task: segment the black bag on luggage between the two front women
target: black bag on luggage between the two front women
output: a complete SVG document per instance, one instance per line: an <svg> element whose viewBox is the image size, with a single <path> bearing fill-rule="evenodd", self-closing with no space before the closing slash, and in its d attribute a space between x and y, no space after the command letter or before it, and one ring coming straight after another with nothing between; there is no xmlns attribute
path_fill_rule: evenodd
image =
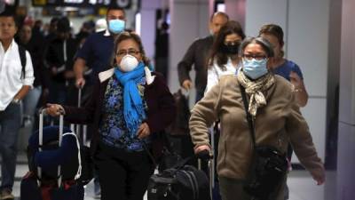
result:
<svg viewBox="0 0 355 200"><path fill-rule="evenodd" d="M206 173L185 165L189 159L152 175L147 188L148 200L210 200Z"/></svg>

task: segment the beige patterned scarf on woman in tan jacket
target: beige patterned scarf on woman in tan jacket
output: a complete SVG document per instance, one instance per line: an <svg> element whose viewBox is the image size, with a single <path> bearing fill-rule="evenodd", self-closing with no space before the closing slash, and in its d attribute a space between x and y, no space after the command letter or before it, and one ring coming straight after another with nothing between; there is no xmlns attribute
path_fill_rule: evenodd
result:
<svg viewBox="0 0 355 200"><path fill-rule="evenodd" d="M263 92L269 89L275 83L275 78L271 73L266 74L254 81L248 79L241 70L238 73L238 82L245 88L245 92L250 96L248 112L251 116L256 116L257 108L266 105L266 99Z"/></svg>

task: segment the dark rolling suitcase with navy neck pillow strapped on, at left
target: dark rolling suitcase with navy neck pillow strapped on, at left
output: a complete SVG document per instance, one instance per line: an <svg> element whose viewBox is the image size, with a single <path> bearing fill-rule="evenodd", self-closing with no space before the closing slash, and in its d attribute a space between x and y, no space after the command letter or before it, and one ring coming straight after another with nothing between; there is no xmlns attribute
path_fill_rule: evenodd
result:
<svg viewBox="0 0 355 200"><path fill-rule="evenodd" d="M79 141L64 128L63 115L59 127L43 128L44 113L45 109L40 113L39 131L28 140L29 172L21 180L20 199L83 200Z"/></svg>

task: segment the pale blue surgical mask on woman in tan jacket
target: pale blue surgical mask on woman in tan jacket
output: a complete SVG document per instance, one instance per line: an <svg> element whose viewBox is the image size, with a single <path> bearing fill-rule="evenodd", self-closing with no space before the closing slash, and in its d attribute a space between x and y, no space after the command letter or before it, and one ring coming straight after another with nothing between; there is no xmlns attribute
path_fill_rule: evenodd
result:
<svg viewBox="0 0 355 200"><path fill-rule="evenodd" d="M243 72L246 76L255 80L267 74L268 71L266 68L266 63L267 63L267 59L263 59L263 60L243 59Z"/></svg>

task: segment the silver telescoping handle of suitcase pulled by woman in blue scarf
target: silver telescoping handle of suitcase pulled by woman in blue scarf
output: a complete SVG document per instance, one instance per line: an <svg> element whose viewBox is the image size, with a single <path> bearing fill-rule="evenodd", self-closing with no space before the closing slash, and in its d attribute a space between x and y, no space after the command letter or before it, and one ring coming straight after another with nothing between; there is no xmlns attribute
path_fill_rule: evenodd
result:
<svg viewBox="0 0 355 200"><path fill-rule="evenodd" d="M64 112L63 110L59 110L59 147L61 146L61 141L63 139L63 128L64 128ZM47 109L43 108L42 110L40 110L40 114L39 114L39 135L38 135L38 144L39 144L39 148L38 151L41 152L43 149L43 116L47 115ZM42 178L42 169L41 167L37 167L37 171L38 171L38 178L39 180L41 180ZM60 164L58 165L58 187L60 187L61 185L61 173L60 173Z"/></svg>

